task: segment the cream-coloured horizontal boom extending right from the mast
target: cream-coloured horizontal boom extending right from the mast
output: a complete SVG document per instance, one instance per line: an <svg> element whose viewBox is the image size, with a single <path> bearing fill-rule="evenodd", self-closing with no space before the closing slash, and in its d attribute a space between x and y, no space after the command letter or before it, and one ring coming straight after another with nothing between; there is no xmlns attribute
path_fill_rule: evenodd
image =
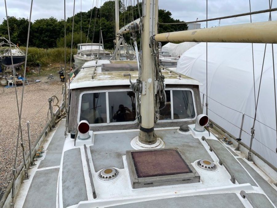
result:
<svg viewBox="0 0 277 208"><path fill-rule="evenodd" d="M277 43L277 21L228 25L206 29L161 33L161 42Z"/></svg>

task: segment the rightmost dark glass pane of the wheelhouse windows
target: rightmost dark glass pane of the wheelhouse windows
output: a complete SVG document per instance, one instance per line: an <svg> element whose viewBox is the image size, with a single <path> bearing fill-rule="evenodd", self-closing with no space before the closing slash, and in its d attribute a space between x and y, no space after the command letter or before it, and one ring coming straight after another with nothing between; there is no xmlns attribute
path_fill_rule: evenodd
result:
<svg viewBox="0 0 277 208"><path fill-rule="evenodd" d="M192 93L189 90L173 90L173 119L194 118Z"/></svg>

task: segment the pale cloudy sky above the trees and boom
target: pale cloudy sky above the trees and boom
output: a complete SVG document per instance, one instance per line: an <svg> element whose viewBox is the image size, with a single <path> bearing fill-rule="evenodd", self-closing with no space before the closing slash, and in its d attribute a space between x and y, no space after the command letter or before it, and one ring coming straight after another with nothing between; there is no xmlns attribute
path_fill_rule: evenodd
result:
<svg viewBox="0 0 277 208"><path fill-rule="evenodd" d="M73 14L73 1L66 0L66 16ZM75 0L75 13L81 10L81 0ZM107 0L98 0L104 3ZM134 0L127 0L134 2ZM141 1L141 0L140 0ZM8 15L15 17L29 18L31 0L6 0ZM63 0L34 0L32 11L32 22L40 18L49 18L51 16L62 19L64 15ZM82 0L82 11L88 11L92 8L93 0ZM126 2L126 0L125 0ZM136 2L136 0L135 0ZM95 6L96 0L94 0ZM98 7L99 7L98 5ZM273 1L272 8L277 6L277 0ZM196 18L206 18L206 0L159 0L159 8L169 10L173 18L182 21L194 21ZM269 0L251 0L251 10L264 10L269 8ZM4 1L0 4L0 21L6 18ZM215 18L239 13L249 12L249 0L208 0L208 18ZM272 20L277 19L277 12L272 13ZM253 22L268 21L268 14L255 14L252 16ZM237 17L221 20L220 25L229 25L237 23L250 22L250 17ZM218 26L219 21L208 23L208 27ZM205 27L206 22L201 24Z"/></svg>

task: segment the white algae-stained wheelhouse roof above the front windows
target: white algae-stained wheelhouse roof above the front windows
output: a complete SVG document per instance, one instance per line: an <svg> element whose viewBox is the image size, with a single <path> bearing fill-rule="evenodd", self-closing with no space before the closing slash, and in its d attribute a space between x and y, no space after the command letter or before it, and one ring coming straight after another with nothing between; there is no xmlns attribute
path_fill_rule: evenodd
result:
<svg viewBox="0 0 277 208"><path fill-rule="evenodd" d="M97 68L93 75L94 67L82 69L70 83L70 89L130 85L129 76L123 76L126 73L131 74L132 82L136 82L139 78L138 71L99 71ZM202 85L199 81L185 75L179 77L166 70L162 70L162 74L165 76L165 84Z"/></svg>

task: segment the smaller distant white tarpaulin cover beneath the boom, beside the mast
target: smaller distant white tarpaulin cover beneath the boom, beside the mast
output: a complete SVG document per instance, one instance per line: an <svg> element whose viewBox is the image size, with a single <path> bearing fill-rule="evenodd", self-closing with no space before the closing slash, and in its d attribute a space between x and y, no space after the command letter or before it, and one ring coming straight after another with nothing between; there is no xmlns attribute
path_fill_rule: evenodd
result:
<svg viewBox="0 0 277 208"><path fill-rule="evenodd" d="M181 56L185 51L197 44L198 43L194 42L183 42L179 44L167 43L162 47L162 51L167 51L169 52L169 55L179 58L179 56Z"/></svg>

